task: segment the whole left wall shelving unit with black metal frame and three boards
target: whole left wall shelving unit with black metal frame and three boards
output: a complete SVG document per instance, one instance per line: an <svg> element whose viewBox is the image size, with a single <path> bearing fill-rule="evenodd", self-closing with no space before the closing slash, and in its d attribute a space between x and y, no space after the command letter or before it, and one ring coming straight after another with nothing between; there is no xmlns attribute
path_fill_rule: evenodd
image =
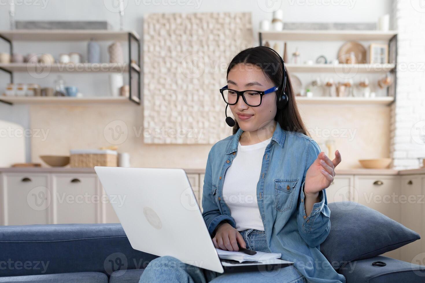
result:
<svg viewBox="0 0 425 283"><path fill-rule="evenodd" d="M128 63L125 64L111 64L111 63L79 63L79 64L59 64L54 63L50 66L42 66L40 64L27 64L27 63L10 63L0 64L0 71L8 73L10 76L10 82L13 83L14 72L31 72L40 74L40 72L68 72L68 73L79 73L79 72L115 72L122 73L128 72L128 86L130 88L129 98L63 98L63 97L0 97L0 102L12 105L15 103L20 104L34 104L34 103L50 103L61 102L77 102L77 103L93 103L93 102L114 102L117 101L131 101L140 105L141 102L141 90L140 90L140 37L134 31L108 31L108 30L0 30L0 39L3 39L9 45L9 53L13 54L13 43L12 41L89 41L91 39L96 41L126 41L128 43ZM137 50L134 52L132 43L136 43ZM132 54L136 56L137 60L132 60ZM130 63L136 62L136 63ZM137 85L133 78L137 79ZM133 90L134 93L133 93Z"/></svg>

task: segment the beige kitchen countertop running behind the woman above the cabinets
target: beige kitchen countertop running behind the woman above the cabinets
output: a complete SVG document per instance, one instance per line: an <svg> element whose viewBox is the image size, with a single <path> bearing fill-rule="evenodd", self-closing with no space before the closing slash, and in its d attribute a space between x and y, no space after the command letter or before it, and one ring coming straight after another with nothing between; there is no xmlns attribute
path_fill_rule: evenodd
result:
<svg viewBox="0 0 425 283"><path fill-rule="evenodd" d="M205 169L184 169L187 174L204 174ZM69 167L38 167L38 168L0 168L0 173L94 173L93 168L69 168ZM336 169L337 175L414 175L425 174L425 168L395 170L395 169Z"/></svg>

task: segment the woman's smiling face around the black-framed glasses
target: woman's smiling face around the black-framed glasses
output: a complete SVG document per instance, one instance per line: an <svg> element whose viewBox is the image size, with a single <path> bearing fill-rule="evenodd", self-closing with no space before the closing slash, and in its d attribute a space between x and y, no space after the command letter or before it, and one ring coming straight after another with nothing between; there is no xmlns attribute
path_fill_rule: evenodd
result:
<svg viewBox="0 0 425 283"><path fill-rule="evenodd" d="M237 64L227 75L228 88L232 90L268 90L274 87L260 67L252 64ZM240 96L238 103L229 105L233 116L243 131L256 131L266 126L276 116L276 92L263 95L260 106L249 106Z"/></svg>

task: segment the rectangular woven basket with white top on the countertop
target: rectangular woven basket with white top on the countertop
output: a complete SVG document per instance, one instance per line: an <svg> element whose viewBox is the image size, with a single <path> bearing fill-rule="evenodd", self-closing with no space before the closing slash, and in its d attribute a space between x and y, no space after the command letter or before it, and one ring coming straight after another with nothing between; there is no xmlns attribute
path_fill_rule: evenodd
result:
<svg viewBox="0 0 425 283"><path fill-rule="evenodd" d="M93 168L94 166L116 167L118 159L116 151L71 151L70 167Z"/></svg>

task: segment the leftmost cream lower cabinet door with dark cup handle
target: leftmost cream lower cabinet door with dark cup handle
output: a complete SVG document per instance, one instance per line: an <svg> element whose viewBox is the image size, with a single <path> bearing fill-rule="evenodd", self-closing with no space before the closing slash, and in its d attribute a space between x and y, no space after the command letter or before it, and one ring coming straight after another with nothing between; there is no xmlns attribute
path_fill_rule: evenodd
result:
<svg viewBox="0 0 425 283"><path fill-rule="evenodd" d="M49 175L3 173L0 201L2 225L45 224L50 221Z"/></svg>

